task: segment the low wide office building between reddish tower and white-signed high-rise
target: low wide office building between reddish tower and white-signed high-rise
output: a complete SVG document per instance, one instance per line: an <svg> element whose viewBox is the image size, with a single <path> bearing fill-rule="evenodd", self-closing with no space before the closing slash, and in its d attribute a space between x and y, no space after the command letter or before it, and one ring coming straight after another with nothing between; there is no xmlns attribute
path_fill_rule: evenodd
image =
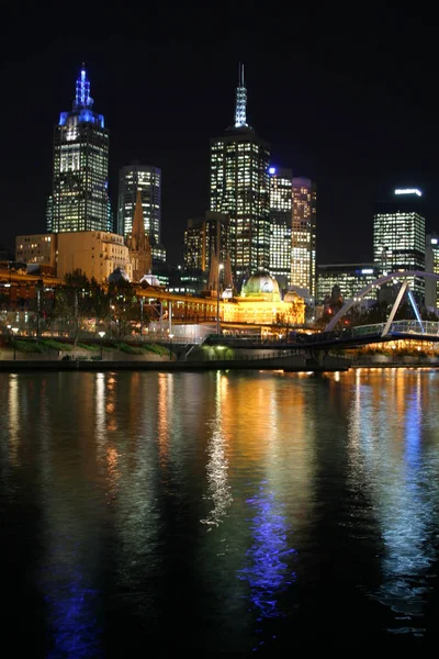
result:
<svg viewBox="0 0 439 659"><path fill-rule="evenodd" d="M351 300L362 289L378 279L374 264L331 264L317 266L317 303L330 298L334 287L340 289L344 300ZM367 293L363 300L376 301L376 289Z"/></svg>

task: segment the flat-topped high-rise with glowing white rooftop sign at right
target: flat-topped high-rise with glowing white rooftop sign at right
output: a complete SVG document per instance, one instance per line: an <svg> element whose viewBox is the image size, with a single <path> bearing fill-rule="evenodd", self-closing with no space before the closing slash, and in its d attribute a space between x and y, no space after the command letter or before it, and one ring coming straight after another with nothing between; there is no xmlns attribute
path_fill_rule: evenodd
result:
<svg viewBox="0 0 439 659"><path fill-rule="evenodd" d="M425 217L421 192L414 188L395 190L391 201L375 204L373 215L373 260L380 275L425 269ZM425 284L420 277L409 286L419 301Z"/></svg>

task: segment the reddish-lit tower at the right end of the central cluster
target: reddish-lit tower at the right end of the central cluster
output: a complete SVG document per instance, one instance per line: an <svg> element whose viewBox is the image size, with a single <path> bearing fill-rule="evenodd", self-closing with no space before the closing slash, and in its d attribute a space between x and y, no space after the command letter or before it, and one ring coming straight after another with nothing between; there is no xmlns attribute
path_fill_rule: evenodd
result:
<svg viewBox="0 0 439 659"><path fill-rule="evenodd" d="M315 182L293 178L293 221L291 228L291 284L316 295L316 206Z"/></svg>

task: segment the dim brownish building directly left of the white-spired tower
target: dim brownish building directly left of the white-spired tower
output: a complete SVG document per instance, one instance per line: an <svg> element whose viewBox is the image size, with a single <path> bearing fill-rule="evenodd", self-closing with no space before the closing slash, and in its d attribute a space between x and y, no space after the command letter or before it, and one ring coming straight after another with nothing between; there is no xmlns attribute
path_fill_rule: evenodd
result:
<svg viewBox="0 0 439 659"><path fill-rule="evenodd" d="M225 263L228 253L228 216L207 211L204 220L188 220L184 232L183 263L188 269L206 271L211 267L212 252Z"/></svg>

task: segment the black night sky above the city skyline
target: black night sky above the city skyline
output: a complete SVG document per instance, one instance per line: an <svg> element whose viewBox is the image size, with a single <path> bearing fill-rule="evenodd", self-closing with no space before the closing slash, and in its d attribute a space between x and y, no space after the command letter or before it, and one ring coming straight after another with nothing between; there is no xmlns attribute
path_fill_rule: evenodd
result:
<svg viewBox="0 0 439 659"><path fill-rule="evenodd" d="M53 7L2 15L0 243L45 231L53 126L82 62L110 129L113 208L120 167L160 167L170 261L209 208L209 138L233 122L239 62L272 164L317 182L317 263L371 260L373 201L394 187L420 188L439 230L437 26L421 3Z"/></svg>

